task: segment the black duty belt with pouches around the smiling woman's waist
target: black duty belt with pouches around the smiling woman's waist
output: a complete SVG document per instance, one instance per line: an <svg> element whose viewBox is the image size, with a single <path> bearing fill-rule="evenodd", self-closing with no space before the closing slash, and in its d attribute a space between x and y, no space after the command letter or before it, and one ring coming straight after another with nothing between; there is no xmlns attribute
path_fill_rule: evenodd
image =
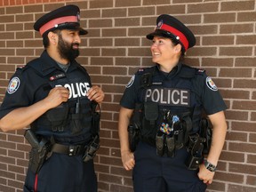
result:
<svg viewBox="0 0 256 192"><path fill-rule="evenodd" d="M208 121L202 119L202 121ZM189 170L196 170L199 164L203 164L204 155L209 153L212 141L212 129L210 127L201 127L206 132L202 132L188 135L187 140L179 140L183 138L184 132L182 130L176 131L173 135L167 135L164 132L156 133L156 154L158 156L174 157L175 152L180 148L187 148L188 158L185 164ZM129 132L129 144L131 151L136 150L136 146L140 142L140 130L134 127L132 124L128 127ZM145 140L144 140L145 141ZM147 142L147 141L146 141ZM151 145L151 143L148 143Z"/></svg>

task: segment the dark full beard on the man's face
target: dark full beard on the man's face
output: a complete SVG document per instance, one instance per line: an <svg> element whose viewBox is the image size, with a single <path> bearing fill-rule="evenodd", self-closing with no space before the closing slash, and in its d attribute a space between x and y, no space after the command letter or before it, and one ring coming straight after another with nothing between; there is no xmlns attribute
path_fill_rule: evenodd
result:
<svg viewBox="0 0 256 192"><path fill-rule="evenodd" d="M65 42L62 39L62 36L59 35L58 50L59 50L61 59L75 60L76 57L78 57L79 50L78 49L73 49L73 45L74 44L68 44L68 42ZM79 44L77 44L77 45L79 45Z"/></svg>

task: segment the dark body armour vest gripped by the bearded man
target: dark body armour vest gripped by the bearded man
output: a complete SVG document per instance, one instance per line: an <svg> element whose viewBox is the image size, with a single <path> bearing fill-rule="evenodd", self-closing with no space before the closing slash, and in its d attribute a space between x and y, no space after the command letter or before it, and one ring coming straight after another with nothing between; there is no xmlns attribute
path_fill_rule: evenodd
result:
<svg viewBox="0 0 256 192"><path fill-rule="evenodd" d="M69 98L67 102L61 103L57 108L52 108L37 118L31 124L31 128L36 134L44 136L53 134L54 138L57 140L59 138L60 141L91 140L92 102L86 96L92 86L90 76L76 61L71 64L67 73L57 68L50 68L47 72L43 72L40 68L44 65L42 62L43 60L38 59L27 65L27 68L33 68L45 82L35 94L46 97L52 88L63 86L69 90ZM76 68L72 68L73 64Z"/></svg>

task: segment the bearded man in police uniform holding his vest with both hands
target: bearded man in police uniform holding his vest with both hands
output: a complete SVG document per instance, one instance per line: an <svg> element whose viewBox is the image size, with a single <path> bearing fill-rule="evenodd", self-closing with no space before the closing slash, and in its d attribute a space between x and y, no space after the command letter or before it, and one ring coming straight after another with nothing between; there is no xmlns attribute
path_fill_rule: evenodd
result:
<svg viewBox="0 0 256 192"><path fill-rule="evenodd" d="M80 10L67 5L36 20L44 52L18 68L0 109L0 128L19 130L32 145L24 191L96 192L92 158L99 148L100 114L104 99L76 62L81 35Z"/></svg>

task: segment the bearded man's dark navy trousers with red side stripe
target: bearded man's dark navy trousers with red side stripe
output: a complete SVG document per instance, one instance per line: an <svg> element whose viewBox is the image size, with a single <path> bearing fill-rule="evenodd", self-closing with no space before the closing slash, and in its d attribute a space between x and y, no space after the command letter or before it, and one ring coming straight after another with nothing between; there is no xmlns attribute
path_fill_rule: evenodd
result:
<svg viewBox="0 0 256 192"><path fill-rule="evenodd" d="M52 153L37 176L28 169L24 192L97 192L97 188L93 161Z"/></svg>

